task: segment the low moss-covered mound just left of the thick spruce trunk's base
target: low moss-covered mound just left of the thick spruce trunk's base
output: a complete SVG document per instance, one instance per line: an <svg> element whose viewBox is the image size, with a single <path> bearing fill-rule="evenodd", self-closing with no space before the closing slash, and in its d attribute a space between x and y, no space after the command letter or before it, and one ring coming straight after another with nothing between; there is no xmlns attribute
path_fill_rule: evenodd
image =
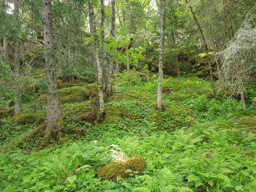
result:
<svg viewBox="0 0 256 192"><path fill-rule="evenodd" d="M46 112L30 112L30 113L20 113L13 116L13 122L21 125L25 124L42 124L45 120Z"/></svg>

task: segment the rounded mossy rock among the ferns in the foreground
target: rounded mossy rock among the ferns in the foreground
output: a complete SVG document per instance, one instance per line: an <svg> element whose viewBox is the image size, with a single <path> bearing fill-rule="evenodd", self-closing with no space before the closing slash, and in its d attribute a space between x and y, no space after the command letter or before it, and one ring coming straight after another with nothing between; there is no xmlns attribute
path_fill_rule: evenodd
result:
<svg viewBox="0 0 256 192"><path fill-rule="evenodd" d="M102 166L97 175L104 180L116 181L116 177L128 178L131 174L141 175L145 170L145 159L139 155L130 157L128 160L116 160L107 166Z"/></svg>

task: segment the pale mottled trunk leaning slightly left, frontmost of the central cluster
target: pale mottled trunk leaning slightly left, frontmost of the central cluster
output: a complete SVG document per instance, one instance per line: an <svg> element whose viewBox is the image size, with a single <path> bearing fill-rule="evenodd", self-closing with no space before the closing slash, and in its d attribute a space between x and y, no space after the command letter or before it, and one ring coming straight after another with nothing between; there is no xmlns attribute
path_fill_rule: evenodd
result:
<svg viewBox="0 0 256 192"><path fill-rule="evenodd" d="M102 83L102 68L100 64L100 52L99 52L99 42L96 31L96 22L95 22L95 14L93 10L92 0L89 0L89 23L90 23L90 33L94 38L94 51L96 58L96 66L98 70L98 86L99 86L99 102L100 102L100 113L104 114L104 96L103 96L103 83Z"/></svg>

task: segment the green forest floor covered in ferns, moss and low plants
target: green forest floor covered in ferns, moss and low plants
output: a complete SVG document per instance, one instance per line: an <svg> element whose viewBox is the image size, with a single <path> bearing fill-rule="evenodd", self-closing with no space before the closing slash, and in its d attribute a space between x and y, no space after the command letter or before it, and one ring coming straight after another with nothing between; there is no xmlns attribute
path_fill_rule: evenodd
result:
<svg viewBox="0 0 256 192"><path fill-rule="evenodd" d="M38 148L43 135L35 134L45 118L45 95L20 115L2 114L0 191L256 191L255 109L244 112L221 92L214 98L209 82L192 76L164 79L165 111L158 112L156 75L123 73L113 82L102 123L91 115L96 84L61 82L64 139L46 148ZM129 169L127 178L99 178L113 148L144 158L142 176Z"/></svg>

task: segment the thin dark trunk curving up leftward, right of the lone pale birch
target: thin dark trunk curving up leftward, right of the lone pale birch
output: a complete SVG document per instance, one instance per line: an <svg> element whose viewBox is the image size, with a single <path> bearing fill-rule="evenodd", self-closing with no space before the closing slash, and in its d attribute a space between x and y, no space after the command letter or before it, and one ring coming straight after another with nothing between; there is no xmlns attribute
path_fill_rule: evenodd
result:
<svg viewBox="0 0 256 192"><path fill-rule="evenodd" d="M194 20L195 20L195 23L197 24L198 30L199 30L199 32L200 32L200 34L201 34L201 38L202 38L203 43L204 43L205 52L206 52L206 57L207 57L207 60L208 60L209 70L210 70L211 89L212 89L212 91L213 91L213 94L215 95L215 92L216 92L216 91L215 91L215 85L214 85L214 82L213 82L213 74L212 74L211 61L210 61L210 59L209 59L209 57L208 57L208 52L209 52L209 50L208 50L208 45L207 45L206 40L205 40L205 35L204 35L203 30L202 30L202 28L201 28L201 26L200 26L200 24L199 24L199 22L198 22L198 19L197 19L197 17L196 17L196 14L195 14L194 11L193 11L192 6L189 5L189 3L188 3L187 0L185 0L185 1L186 1L186 4L188 4L188 6L189 6L189 9L190 9L190 11L191 11L191 13L192 13L192 16L193 16L193 18L194 18Z"/></svg>

